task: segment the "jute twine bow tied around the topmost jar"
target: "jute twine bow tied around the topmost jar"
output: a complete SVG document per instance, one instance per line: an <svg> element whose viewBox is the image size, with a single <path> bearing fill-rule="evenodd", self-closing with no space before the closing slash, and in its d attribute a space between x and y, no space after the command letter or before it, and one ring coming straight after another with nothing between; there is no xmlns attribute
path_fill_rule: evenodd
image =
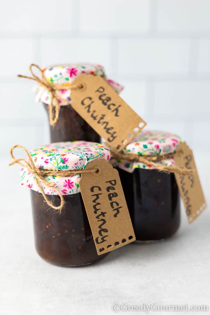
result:
<svg viewBox="0 0 210 315"><path fill-rule="evenodd" d="M37 77L34 74L34 72L32 70L32 67L36 67L39 70L40 77ZM58 100L61 100L61 101L65 102L65 103L68 103L67 100L62 99L60 96L58 96L56 94L56 90L82 89L83 85L82 85L82 83L78 83L77 85L75 85L73 83L53 84L53 83L49 82L48 79L44 76L44 73L43 73L42 69L39 66L35 65L35 64L31 64L29 66L29 70L31 72L31 76L32 77L22 76L21 74L18 74L18 77L37 81L37 83L40 86L42 86L44 89L46 89L49 92L49 95L50 95L50 104L48 106L49 123L50 123L51 126L54 126L56 124L56 122L58 121L58 117L59 117L60 106L59 106L59 101Z"/></svg>

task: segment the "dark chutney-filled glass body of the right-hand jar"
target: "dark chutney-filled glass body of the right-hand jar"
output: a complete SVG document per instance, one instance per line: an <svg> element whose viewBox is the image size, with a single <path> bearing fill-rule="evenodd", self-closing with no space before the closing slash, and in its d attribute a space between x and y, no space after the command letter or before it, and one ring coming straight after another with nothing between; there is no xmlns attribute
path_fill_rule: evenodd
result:
<svg viewBox="0 0 210 315"><path fill-rule="evenodd" d="M133 223L136 241L172 236L180 225L180 197L173 173L156 169L117 169Z"/></svg>

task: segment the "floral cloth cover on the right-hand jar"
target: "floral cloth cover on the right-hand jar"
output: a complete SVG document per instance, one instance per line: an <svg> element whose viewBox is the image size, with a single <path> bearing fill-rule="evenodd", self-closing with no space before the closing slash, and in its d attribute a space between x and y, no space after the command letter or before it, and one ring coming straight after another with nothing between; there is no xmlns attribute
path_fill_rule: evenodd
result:
<svg viewBox="0 0 210 315"><path fill-rule="evenodd" d="M139 156L148 155L165 155L174 153L176 147L181 143L178 135L164 131L143 130L125 147L125 151L138 154ZM157 162L164 165L174 165L173 157ZM131 162L127 160L119 160L114 163L120 169L124 169L130 173L136 168L155 169L151 165L142 162Z"/></svg>

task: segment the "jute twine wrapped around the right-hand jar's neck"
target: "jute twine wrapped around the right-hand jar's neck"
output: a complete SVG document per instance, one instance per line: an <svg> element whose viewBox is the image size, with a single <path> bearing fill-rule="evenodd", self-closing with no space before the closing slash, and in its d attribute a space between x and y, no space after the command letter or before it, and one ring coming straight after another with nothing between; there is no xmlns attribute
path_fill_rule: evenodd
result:
<svg viewBox="0 0 210 315"><path fill-rule="evenodd" d="M106 144L107 145L107 144ZM116 160L128 160L131 162L141 162L149 166L155 167L155 169L162 171L162 172L167 172L167 173L176 173L179 175L190 175L194 171L193 169L186 169L182 168L176 165L161 165L158 164L157 162L162 162L164 160L167 160L169 158L172 158L174 154L181 154L181 151L175 152L175 153L167 153L164 155L147 155L147 156L142 156L138 155L136 153L131 153L131 152L126 152L122 151L122 153L114 151L112 148L110 148L111 151L111 157L116 159Z"/></svg>

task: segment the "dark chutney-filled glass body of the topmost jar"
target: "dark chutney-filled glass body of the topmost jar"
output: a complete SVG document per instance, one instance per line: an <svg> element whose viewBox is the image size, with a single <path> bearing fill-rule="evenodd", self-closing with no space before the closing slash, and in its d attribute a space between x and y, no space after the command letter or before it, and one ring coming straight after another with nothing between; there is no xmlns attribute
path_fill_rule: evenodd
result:
<svg viewBox="0 0 210 315"><path fill-rule="evenodd" d="M48 105L43 103L48 112ZM61 105L55 126L50 127L51 142L92 141L100 142L99 134L73 109L71 105Z"/></svg>

